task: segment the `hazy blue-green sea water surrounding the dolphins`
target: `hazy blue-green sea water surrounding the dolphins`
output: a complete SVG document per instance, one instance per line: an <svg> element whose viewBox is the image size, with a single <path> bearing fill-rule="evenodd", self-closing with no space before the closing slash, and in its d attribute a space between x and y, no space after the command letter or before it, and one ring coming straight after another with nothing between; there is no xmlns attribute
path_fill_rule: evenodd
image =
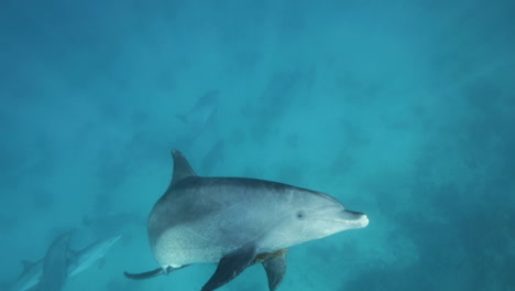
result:
<svg viewBox="0 0 515 291"><path fill-rule="evenodd" d="M64 290L156 268L171 149L331 194L370 225L293 247L288 290L515 290L514 1L0 2L0 290L76 229ZM213 194L216 195L216 193ZM267 290L261 267L220 290Z"/></svg>

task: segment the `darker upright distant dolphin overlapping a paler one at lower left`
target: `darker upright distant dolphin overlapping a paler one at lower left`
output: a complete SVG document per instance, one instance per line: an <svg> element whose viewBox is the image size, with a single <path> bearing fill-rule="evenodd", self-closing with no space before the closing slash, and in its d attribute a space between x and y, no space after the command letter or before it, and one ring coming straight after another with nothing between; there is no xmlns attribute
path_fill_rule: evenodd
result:
<svg viewBox="0 0 515 291"><path fill-rule="evenodd" d="M37 291L61 291L68 278L68 267L73 263L73 252L69 249L72 233L58 236L43 258L42 274Z"/></svg>

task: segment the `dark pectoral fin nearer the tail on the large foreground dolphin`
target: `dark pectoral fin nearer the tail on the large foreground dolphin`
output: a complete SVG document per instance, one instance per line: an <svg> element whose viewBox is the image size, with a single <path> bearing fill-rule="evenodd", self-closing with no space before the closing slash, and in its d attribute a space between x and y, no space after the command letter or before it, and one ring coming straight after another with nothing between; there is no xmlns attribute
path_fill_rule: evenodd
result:
<svg viewBox="0 0 515 291"><path fill-rule="evenodd" d="M221 258L212 277L202 287L202 291L212 291L234 279L254 261L255 255L255 245L246 245L226 255Z"/></svg>

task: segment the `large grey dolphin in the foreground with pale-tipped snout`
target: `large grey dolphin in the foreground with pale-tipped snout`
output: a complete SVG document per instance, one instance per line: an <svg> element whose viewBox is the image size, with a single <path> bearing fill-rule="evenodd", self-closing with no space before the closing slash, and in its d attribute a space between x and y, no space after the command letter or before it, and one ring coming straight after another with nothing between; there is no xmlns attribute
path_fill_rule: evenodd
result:
<svg viewBox="0 0 515 291"><path fill-rule="evenodd" d="M284 278L289 247L369 224L365 214L346 209L328 194L256 179L198 176L179 151L172 155L172 182L147 222L160 267L124 272L130 279L211 262L218 267L201 289L211 291L262 263L274 291Z"/></svg>

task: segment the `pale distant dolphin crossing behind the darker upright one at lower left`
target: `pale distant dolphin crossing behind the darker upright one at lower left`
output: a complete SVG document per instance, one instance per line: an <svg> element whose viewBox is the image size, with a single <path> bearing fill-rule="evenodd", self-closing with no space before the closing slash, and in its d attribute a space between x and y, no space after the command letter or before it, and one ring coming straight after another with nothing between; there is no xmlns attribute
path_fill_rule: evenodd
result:
<svg viewBox="0 0 515 291"><path fill-rule="evenodd" d="M120 239L119 236L108 237L98 240L79 251L73 251L72 256L75 257L74 262L68 268L68 277L74 277L79 272L85 271L97 261L106 257L109 249ZM10 291L26 291L40 281L43 273L43 260L36 262L22 261L24 269L19 276L14 284L9 289Z"/></svg>

